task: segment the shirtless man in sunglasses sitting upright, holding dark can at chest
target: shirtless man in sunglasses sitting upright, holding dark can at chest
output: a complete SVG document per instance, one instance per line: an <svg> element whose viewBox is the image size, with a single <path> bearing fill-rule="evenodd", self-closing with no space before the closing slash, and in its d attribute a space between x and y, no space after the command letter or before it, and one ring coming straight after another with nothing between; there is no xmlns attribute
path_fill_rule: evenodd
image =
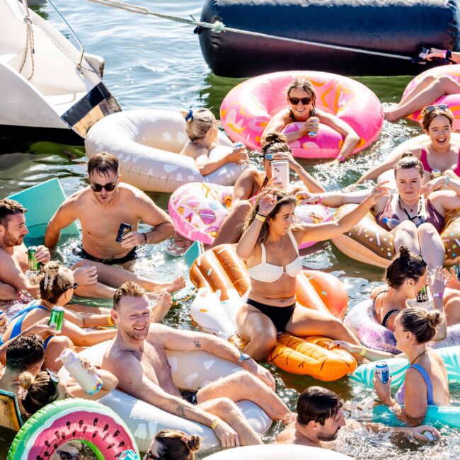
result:
<svg viewBox="0 0 460 460"><path fill-rule="evenodd" d="M139 257L139 246L160 243L173 236L174 226L168 214L141 190L121 182L118 159L110 154L97 154L88 161L88 187L75 192L62 203L51 218L45 233L45 246L54 248L61 230L80 220L82 244L79 251L85 265L97 265L98 280L118 287L125 281L141 284L148 292L166 289L176 291L185 286L183 277L173 282L154 282L127 270ZM139 222L153 229L139 232ZM132 231L117 242L120 224L130 224Z"/></svg>

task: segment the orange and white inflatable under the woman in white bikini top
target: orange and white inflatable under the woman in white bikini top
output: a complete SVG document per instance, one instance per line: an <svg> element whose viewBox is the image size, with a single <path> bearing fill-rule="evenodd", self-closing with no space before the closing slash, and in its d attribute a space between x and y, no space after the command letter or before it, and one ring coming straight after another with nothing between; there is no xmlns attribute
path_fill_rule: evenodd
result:
<svg viewBox="0 0 460 460"><path fill-rule="evenodd" d="M190 314L202 329L231 340L236 335L236 312L249 289L246 264L233 245L216 246L200 255L190 268L190 280L198 288ZM343 318L348 296L343 284L328 273L302 270L297 278L297 301L302 306ZM356 360L349 352L328 350L330 339L278 335L268 360L293 374L311 375L323 381L354 372Z"/></svg>

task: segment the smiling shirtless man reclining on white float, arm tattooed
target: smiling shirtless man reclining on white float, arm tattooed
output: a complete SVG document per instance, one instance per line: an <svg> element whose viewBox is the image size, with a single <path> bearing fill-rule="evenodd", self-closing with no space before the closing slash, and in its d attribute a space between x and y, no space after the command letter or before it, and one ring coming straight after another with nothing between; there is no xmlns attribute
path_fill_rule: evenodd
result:
<svg viewBox="0 0 460 460"><path fill-rule="evenodd" d="M223 447L261 444L236 402L253 401L274 420L292 420L292 413L273 391L275 379L248 355L214 335L150 323L149 303L138 284L127 282L113 297L117 335L105 352L102 368L117 376L118 388L168 413L212 427ZM180 393L173 383L168 350L202 350L239 363L243 372ZM126 372L130 369L130 372Z"/></svg>

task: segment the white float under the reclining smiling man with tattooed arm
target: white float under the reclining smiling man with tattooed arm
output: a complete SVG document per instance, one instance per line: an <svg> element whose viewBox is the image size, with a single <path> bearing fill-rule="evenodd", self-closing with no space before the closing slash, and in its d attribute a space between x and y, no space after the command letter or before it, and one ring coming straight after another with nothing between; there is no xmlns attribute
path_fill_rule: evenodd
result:
<svg viewBox="0 0 460 460"><path fill-rule="evenodd" d="M87 357L93 364L100 364L103 353L110 341L88 347L81 352L81 356ZM241 367L232 362L222 360L207 352L177 352L166 350L173 382L180 389L195 391L209 384L211 381L220 379L222 376L241 372ZM59 377L67 381L70 376L62 367ZM157 432L161 430L182 430L188 435L201 437L201 451L220 447L219 439L214 435L210 427L192 422L177 415L170 414L140 401L123 391L114 390L107 396L100 398L100 403L115 411L134 435L137 446L141 452L146 452ZM250 425L256 432L263 435L272 425L272 420L256 404L251 401L237 403Z"/></svg>

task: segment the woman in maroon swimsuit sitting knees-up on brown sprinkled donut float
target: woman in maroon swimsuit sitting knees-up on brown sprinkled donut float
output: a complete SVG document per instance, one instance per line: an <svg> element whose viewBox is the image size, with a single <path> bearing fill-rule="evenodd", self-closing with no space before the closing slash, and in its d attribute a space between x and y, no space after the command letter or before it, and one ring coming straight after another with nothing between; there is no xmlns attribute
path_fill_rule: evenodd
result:
<svg viewBox="0 0 460 460"><path fill-rule="evenodd" d="M403 154L393 170L396 193L376 202L372 208L376 222L390 230L384 218L395 219L393 224L396 226L391 229L391 233L394 235L396 253L401 246L407 246L410 252L422 255L428 270L444 265L444 243L439 232L442 231L447 212L460 208L460 179L441 176L423 185L423 165L410 153ZM369 190L327 192L309 195L306 202L323 202L329 207L340 207L358 203L368 194Z"/></svg>

